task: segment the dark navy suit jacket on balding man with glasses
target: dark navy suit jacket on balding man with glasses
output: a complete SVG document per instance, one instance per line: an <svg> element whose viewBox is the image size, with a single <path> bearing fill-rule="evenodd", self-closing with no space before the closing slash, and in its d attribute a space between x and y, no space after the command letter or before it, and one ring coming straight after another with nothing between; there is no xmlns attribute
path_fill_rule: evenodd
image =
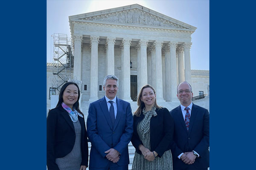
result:
<svg viewBox="0 0 256 170"><path fill-rule="evenodd" d="M172 159L174 169L184 169L192 166L195 169L209 167L209 112L193 103L189 121L189 131L186 130L185 121L180 106L170 111L174 119L174 142L172 143ZM185 164L177 156L180 153L195 150L200 157L194 164Z"/></svg>

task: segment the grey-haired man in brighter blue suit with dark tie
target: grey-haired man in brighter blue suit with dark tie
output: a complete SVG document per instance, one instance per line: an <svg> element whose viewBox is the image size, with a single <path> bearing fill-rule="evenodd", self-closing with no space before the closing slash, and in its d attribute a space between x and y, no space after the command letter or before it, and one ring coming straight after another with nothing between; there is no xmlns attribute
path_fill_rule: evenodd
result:
<svg viewBox="0 0 256 170"><path fill-rule="evenodd" d="M118 78L108 75L105 96L90 103L87 136L91 142L90 170L128 170L128 143L133 134L131 105L118 99Z"/></svg>

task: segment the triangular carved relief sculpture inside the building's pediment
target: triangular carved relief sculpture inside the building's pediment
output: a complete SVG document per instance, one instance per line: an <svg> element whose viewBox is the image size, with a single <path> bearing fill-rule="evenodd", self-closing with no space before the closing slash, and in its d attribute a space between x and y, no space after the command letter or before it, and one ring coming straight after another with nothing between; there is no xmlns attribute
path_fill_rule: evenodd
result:
<svg viewBox="0 0 256 170"><path fill-rule="evenodd" d="M147 12L125 11L122 13L102 14L94 17L83 18L82 20L108 21L112 23L128 23L136 25L161 26L173 28L185 28L163 18L154 16Z"/></svg>

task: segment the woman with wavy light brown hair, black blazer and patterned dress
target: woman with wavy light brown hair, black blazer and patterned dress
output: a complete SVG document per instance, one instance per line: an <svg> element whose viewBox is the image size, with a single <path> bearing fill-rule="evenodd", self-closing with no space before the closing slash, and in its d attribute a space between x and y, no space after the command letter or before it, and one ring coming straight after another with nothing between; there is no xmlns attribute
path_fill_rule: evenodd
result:
<svg viewBox="0 0 256 170"><path fill-rule="evenodd" d="M151 85L141 88L137 105L131 139L136 149L132 170L172 170L174 123L168 109L157 105Z"/></svg>

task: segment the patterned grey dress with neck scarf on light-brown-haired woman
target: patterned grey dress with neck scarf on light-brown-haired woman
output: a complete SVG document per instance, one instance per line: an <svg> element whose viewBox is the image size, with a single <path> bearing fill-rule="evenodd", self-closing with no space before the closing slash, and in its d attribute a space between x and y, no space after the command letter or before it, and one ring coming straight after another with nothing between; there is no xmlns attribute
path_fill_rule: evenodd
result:
<svg viewBox="0 0 256 170"><path fill-rule="evenodd" d="M145 112L143 109L144 118L137 125L137 132L143 146L150 150L150 119L152 116L157 116L156 108L153 107L151 111ZM172 152L167 150L163 156L156 157L154 161L148 161L144 158L143 154L135 151L132 170L172 170Z"/></svg>

